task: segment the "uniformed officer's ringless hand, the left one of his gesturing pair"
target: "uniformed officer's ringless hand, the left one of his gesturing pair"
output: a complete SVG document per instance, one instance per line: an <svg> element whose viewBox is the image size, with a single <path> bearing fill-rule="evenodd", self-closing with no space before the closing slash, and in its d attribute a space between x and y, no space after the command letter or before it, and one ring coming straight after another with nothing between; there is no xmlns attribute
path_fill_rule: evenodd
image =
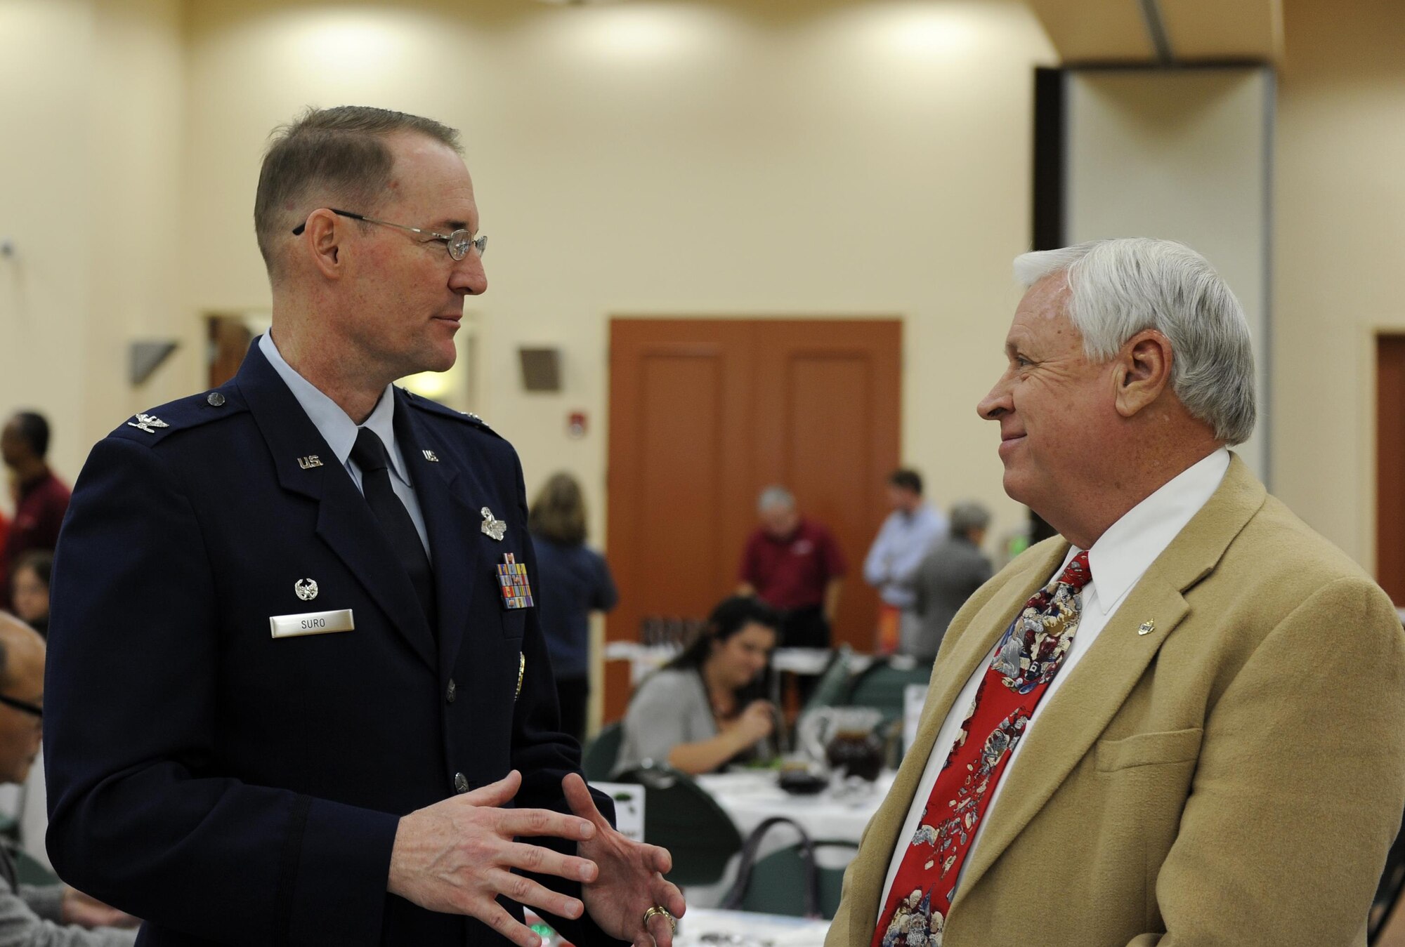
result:
<svg viewBox="0 0 1405 947"><path fill-rule="evenodd" d="M599 829L587 819L549 809L499 808L520 785L521 774L513 770L497 783L403 816L391 851L389 892L430 910L478 917L521 947L537 947L541 939L517 923L497 903L497 895L562 917L579 917L583 906L577 899L511 870L590 882L599 874L596 866L513 837L556 836L584 846Z"/></svg>

